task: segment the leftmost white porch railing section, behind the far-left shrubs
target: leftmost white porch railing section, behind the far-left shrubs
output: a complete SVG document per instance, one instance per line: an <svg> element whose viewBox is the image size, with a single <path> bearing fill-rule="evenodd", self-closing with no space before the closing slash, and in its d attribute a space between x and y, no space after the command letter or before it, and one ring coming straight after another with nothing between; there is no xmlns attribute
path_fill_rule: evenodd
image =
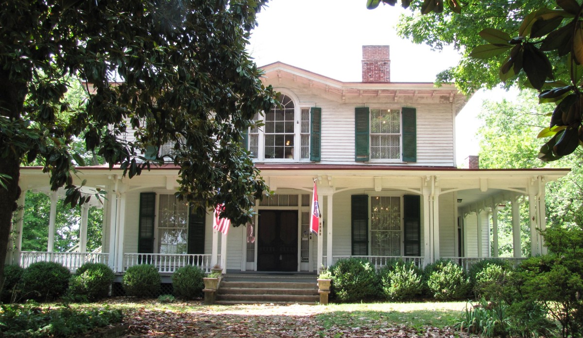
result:
<svg viewBox="0 0 583 338"><path fill-rule="evenodd" d="M20 252L20 266L26 268L36 262L61 263L67 269L75 272L78 267L85 263L107 263L109 254L100 252L43 252L43 251L22 251Z"/></svg>

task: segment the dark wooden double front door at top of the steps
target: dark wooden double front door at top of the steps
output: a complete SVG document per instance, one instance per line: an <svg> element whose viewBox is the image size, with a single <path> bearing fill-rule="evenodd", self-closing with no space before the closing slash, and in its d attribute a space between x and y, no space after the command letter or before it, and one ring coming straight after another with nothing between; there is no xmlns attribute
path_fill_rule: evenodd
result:
<svg viewBox="0 0 583 338"><path fill-rule="evenodd" d="M259 210L257 270L297 271L297 211Z"/></svg>

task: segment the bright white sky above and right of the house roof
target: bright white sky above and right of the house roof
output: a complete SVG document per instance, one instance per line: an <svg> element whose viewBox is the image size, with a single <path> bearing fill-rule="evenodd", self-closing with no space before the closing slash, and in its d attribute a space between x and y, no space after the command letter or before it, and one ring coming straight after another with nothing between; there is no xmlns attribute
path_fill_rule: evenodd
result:
<svg viewBox="0 0 583 338"><path fill-rule="evenodd" d="M396 34L401 6L368 10L366 0L271 0L258 15L248 50L258 66L281 61L343 82L361 80L362 45L390 45L391 81L434 82L457 64L453 48L437 52ZM456 162L477 154L475 118L487 93L475 94L456 118Z"/></svg>

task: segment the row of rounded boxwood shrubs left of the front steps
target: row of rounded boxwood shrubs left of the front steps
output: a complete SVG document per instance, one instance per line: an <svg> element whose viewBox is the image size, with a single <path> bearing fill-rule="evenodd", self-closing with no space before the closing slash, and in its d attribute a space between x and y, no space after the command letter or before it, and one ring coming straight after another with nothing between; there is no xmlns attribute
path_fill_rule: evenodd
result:
<svg viewBox="0 0 583 338"><path fill-rule="evenodd" d="M26 300L47 302L59 297L71 301L96 301L107 297L114 272L102 263L86 263L71 275L59 263L37 262L26 269L17 265L5 266L6 276L0 301L14 303ZM185 266L172 276L174 294L185 300L202 295L203 270ZM135 297L156 297L160 293L161 278L153 265L143 264L129 267L122 279L125 294Z"/></svg>

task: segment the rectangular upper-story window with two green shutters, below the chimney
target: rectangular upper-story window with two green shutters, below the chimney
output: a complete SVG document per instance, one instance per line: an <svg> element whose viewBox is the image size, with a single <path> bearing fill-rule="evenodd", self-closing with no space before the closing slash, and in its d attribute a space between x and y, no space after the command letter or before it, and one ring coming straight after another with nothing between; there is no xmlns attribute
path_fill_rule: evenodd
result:
<svg viewBox="0 0 583 338"><path fill-rule="evenodd" d="M357 107L356 161L417 161L416 109Z"/></svg>

